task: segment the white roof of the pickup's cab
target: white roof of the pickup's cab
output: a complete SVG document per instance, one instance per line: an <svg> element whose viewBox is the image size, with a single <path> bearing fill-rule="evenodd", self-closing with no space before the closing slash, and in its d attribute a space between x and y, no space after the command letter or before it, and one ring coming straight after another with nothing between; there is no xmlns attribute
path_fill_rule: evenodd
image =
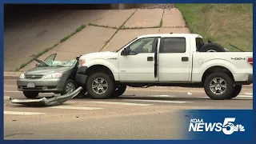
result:
<svg viewBox="0 0 256 144"><path fill-rule="evenodd" d="M147 38L147 37L201 37L201 35L199 34L145 34L145 35L141 35L138 38Z"/></svg>

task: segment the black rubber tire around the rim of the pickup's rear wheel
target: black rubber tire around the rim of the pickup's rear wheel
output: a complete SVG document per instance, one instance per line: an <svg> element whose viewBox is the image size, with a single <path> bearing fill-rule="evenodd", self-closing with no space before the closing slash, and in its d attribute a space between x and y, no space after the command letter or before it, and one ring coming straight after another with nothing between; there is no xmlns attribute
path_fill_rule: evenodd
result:
<svg viewBox="0 0 256 144"><path fill-rule="evenodd" d="M222 78L224 81L222 82L222 85L224 85L224 82L226 83L226 89L222 89L224 90L224 92L222 94L217 94L218 91L220 90L216 90L216 94L214 94L214 90L210 89L210 84L213 82L214 78L217 78L217 80L219 78ZM219 83L216 84L216 86L218 86L218 88L220 88L220 86L218 85ZM215 89L215 88L213 88ZM231 94L234 91L234 82L232 80L232 78L230 78L230 76L226 73L223 72L215 72L212 74L209 74L205 81L204 81L204 90L206 92L206 94L214 100L223 100L223 99L228 99L230 98Z"/></svg>

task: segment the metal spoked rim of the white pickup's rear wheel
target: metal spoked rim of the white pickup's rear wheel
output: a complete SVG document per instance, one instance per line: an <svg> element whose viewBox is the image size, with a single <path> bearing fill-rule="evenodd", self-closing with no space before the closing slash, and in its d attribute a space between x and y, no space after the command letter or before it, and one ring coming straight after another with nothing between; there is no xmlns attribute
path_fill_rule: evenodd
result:
<svg viewBox="0 0 256 144"><path fill-rule="evenodd" d="M225 93L226 81L223 78L214 78L210 82L210 91L218 95Z"/></svg>

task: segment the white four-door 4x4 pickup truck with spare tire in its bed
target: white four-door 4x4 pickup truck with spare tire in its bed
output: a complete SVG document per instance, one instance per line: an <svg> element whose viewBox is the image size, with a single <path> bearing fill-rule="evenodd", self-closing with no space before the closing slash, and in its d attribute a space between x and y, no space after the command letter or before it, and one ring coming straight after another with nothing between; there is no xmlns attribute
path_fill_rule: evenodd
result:
<svg viewBox="0 0 256 144"><path fill-rule="evenodd" d="M203 86L210 98L222 100L253 82L252 52L226 52L199 34L142 35L78 61L76 80L92 98L118 97L126 86Z"/></svg>

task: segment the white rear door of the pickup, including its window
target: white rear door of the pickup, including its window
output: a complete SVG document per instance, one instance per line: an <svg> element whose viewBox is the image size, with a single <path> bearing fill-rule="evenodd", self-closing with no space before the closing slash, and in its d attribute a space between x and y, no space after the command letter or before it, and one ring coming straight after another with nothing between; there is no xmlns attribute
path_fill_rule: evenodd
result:
<svg viewBox="0 0 256 144"><path fill-rule="evenodd" d="M162 37L159 47L158 74L160 82L190 81L190 39Z"/></svg>

